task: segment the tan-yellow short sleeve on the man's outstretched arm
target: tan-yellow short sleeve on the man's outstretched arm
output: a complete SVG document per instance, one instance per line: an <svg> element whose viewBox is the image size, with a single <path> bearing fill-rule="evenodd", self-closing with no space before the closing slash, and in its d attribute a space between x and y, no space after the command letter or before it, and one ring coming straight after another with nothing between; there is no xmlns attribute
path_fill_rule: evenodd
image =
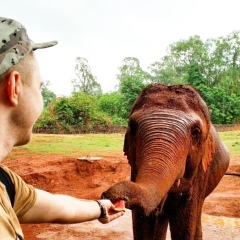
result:
<svg viewBox="0 0 240 240"><path fill-rule="evenodd" d="M2 166L1 166L2 167ZM23 216L36 202L37 194L33 186L24 182L24 180L9 168L3 167L9 174L15 187L15 198L13 210L17 217Z"/></svg>

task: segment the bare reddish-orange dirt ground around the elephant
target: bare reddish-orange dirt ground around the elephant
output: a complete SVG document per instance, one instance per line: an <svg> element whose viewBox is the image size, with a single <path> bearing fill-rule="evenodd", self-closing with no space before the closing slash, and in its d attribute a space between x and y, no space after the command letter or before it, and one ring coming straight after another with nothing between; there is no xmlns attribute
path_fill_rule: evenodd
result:
<svg viewBox="0 0 240 240"><path fill-rule="evenodd" d="M105 154L106 157L102 160L92 162L77 160L77 157L82 156L27 156L20 150L14 151L16 159L6 159L4 164L22 176L26 182L52 193L99 199L109 186L129 179L130 168L120 151L111 151ZM231 159L229 170L240 173L240 156ZM240 177L224 176L215 191L206 199L203 208L204 239L240 239L239 186ZM71 225L23 224L22 228L25 239L28 240L133 239L130 210L127 210L123 217L106 225L95 220ZM167 239L170 239L169 233Z"/></svg>

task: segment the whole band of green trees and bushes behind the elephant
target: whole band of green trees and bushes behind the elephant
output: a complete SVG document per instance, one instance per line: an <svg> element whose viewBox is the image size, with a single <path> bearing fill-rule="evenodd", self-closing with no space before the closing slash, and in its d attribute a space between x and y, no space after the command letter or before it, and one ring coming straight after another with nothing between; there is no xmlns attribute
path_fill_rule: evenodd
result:
<svg viewBox="0 0 240 240"><path fill-rule="evenodd" d="M137 58L124 58L116 91L102 94L87 59L78 57L72 95L55 99L47 82L42 89L45 109L35 126L69 133L126 126L141 90L156 82L189 84L198 89L215 124L240 122L240 32L206 41L192 36L172 43L167 54L148 70L141 68Z"/></svg>

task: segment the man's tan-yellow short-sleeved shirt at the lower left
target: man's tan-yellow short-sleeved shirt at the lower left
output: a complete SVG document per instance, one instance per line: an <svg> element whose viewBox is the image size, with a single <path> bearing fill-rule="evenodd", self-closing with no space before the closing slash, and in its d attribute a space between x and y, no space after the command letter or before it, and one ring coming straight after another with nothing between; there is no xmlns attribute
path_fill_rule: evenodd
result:
<svg viewBox="0 0 240 240"><path fill-rule="evenodd" d="M23 238L18 217L23 216L34 205L36 191L10 169L2 165L1 167L12 179L16 194L12 208L5 185L0 182L0 239L21 239L18 238L19 235Z"/></svg>

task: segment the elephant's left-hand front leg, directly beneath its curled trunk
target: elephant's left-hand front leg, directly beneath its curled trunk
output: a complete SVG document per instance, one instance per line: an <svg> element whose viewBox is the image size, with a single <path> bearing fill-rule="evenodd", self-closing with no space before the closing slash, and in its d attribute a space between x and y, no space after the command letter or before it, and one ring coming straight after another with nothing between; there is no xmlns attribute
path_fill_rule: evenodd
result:
<svg viewBox="0 0 240 240"><path fill-rule="evenodd" d="M168 226L166 217L151 214L146 217L132 211L133 235L135 240L165 240Z"/></svg>

